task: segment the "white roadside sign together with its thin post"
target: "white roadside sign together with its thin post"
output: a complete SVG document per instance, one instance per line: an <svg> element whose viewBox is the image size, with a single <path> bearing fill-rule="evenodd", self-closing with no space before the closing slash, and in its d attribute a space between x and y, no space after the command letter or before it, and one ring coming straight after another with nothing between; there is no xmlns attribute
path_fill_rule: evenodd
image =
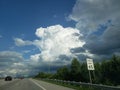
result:
<svg viewBox="0 0 120 90"><path fill-rule="evenodd" d="M93 59L87 58L86 61L87 61L87 68L88 68L88 71L89 71L90 83L92 83L90 70L92 70L92 71L95 70L94 64L93 64Z"/></svg>

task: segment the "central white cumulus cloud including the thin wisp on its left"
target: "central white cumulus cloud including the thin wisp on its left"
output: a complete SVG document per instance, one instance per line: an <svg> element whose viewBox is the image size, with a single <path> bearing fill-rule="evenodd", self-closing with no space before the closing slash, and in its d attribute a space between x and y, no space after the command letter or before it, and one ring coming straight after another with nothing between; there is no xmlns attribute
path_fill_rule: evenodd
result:
<svg viewBox="0 0 120 90"><path fill-rule="evenodd" d="M34 45L40 53L30 55L33 62L48 62L60 60L61 56L75 57L71 49L83 47L85 42L81 40L82 34L78 29L53 25L46 28L40 27L35 35L39 39L33 41L15 38L17 46Z"/></svg>

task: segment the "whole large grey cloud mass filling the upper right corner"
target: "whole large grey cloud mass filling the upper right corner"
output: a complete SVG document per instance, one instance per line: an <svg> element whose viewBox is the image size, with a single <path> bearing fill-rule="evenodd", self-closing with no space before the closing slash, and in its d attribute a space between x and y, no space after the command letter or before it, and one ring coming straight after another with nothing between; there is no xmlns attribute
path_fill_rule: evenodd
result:
<svg viewBox="0 0 120 90"><path fill-rule="evenodd" d="M77 0L69 15L76 21L86 43L83 48L92 58L120 55L120 0ZM80 48L71 50L80 52ZM85 53L85 51L83 51ZM84 54L83 54L84 55ZM83 56L78 55L83 58Z"/></svg>

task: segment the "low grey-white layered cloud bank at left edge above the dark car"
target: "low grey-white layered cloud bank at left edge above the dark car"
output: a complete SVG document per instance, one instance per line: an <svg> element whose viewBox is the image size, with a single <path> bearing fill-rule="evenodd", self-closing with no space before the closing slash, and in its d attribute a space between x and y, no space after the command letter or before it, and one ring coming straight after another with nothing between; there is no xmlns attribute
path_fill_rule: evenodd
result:
<svg viewBox="0 0 120 90"><path fill-rule="evenodd" d="M0 52L0 75L2 77L26 73L24 72L24 69L27 68L26 66L22 54L15 51Z"/></svg>

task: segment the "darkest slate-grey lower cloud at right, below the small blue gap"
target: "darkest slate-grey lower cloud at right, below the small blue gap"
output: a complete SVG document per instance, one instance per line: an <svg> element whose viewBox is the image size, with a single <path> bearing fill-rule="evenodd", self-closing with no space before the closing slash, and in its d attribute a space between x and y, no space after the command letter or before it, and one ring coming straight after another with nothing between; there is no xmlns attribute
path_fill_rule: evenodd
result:
<svg viewBox="0 0 120 90"><path fill-rule="evenodd" d="M120 27L111 26L101 36L89 36L84 47L93 54L114 54L120 48Z"/></svg>

